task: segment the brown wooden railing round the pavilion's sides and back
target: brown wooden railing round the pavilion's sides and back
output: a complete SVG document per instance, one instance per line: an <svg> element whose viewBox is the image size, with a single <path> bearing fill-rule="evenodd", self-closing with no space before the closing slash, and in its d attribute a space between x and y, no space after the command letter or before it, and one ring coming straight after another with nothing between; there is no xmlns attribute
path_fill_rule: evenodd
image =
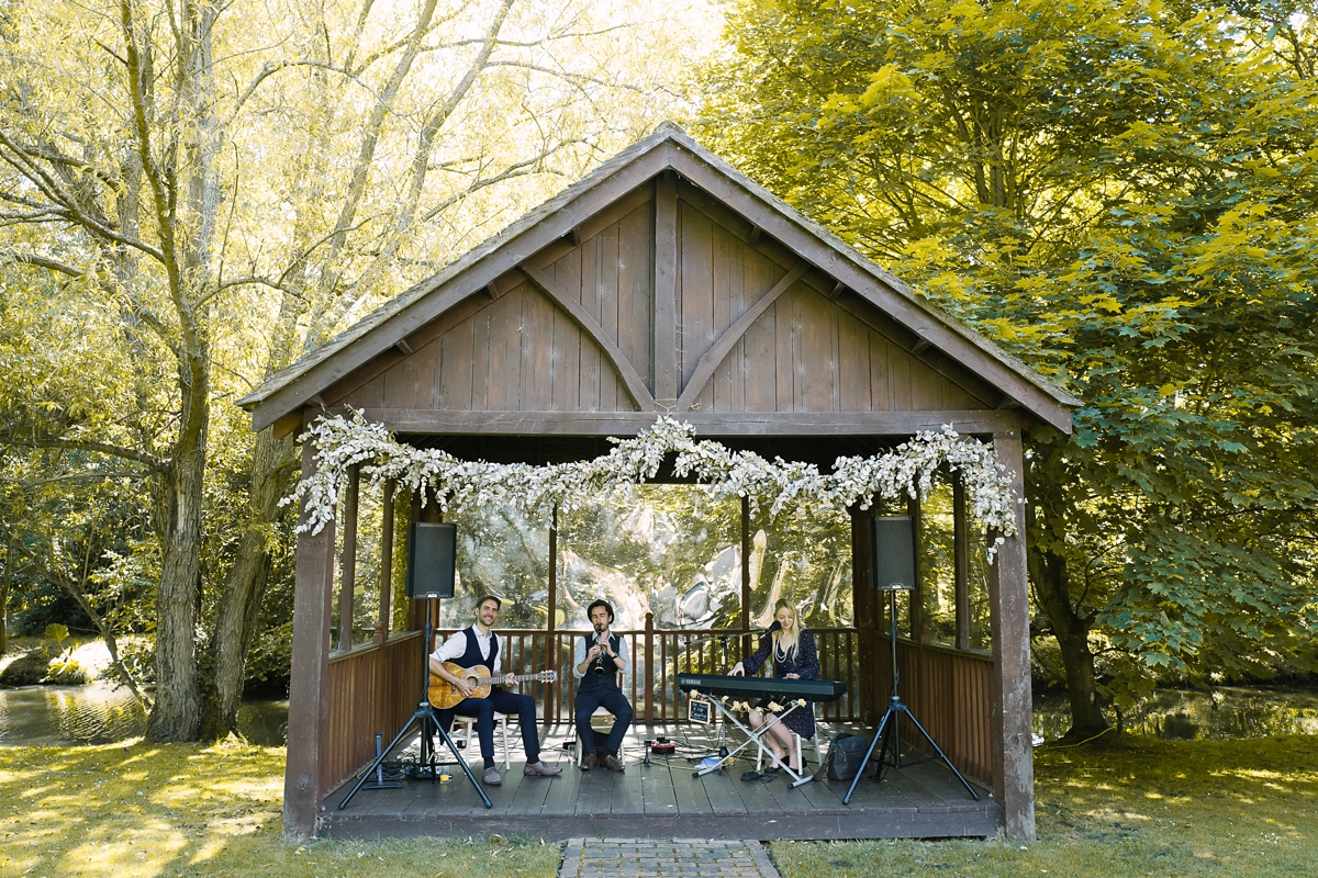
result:
<svg viewBox="0 0 1318 878"><path fill-rule="evenodd" d="M813 628L820 654L820 677L846 683L846 695L816 704L816 716L826 723L862 721L862 681L858 659L859 632L854 628ZM452 631L442 631L440 637ZM571 723L577 681L572 675L572 650L587 631L500 631L505 657L502 667L515 674L554 670L558 683L521 683L532 695L546 723ZM676 688L679 673L726 674L750 653L759 632L741 631L641 631L616 632L627 642L631 667L623 691L637 710L637 721L685 723L687 695ZM330 700L324 786L332 790L374 756L374 735L390 741L416 710L420 691L420 632L393 636L382 645L358 646L330 659ZM891 679L888 650L878 654L879 712L886 707ZM933 736L962 774L988 783L992 777L992 657L987 653L929 646L908 640L898 642L902 666L900 695L920 724ZM903 737L912 745L923 740L903 723Z"/></svg>

